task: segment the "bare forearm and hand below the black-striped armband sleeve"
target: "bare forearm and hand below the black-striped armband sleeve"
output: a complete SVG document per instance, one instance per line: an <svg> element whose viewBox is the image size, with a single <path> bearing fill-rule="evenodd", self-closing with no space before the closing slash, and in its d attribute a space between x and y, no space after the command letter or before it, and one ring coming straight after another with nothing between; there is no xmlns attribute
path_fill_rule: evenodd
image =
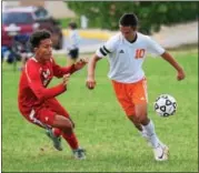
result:
<svg viewBox="0 0 199 173"><path fill-rule="evenodd" d="M96 80L94 80L94 70L96 70L96 64L98 60L100 60L97 54L94 54L92 58L90 58L88 62L88 70L87 70L87 81L86 85L88 89L92 90L96 86Z"/></svg>

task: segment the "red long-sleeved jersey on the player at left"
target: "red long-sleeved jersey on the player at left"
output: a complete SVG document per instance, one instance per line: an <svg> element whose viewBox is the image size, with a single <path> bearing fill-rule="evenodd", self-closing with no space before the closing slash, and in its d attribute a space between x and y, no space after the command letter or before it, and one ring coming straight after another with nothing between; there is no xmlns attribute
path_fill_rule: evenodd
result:
<svg viewBox="0 0 199 173"><path fill-rule="evenodd" d="M52 58L44 64L39 63L34 58L29 59L19 82L18 106L20 112L26 115L32 109L37 111L42 108L46 100L64 92L63 84L50 89L47 89L47 85L53 77L62 78L63 74L74 71L74 65L61 68Z"/></svg>

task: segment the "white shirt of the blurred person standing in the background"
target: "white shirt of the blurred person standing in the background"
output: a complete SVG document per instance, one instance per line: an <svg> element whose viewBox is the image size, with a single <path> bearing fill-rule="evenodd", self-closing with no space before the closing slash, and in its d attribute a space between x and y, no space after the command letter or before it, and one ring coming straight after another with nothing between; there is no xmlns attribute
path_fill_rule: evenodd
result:
<svg viewBox="0 0 199 173"><path fill-rule="evenodd" d="M71 30L69 32L69 41L70 41L69 50L79 48L80 37L77 30Z"/></svg>

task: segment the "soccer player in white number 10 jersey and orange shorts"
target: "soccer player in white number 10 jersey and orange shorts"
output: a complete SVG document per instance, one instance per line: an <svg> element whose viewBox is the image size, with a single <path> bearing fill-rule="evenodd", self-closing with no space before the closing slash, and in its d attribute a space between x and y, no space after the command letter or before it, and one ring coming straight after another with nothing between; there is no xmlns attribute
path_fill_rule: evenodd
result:
<svg viewBox="0 0 199 173"><path fill-rule="evenodd" d="M96 86L94 69L98 60L108 57L110 71L108 77L119 103L140 134L151 144L157 161L168 160L169 147L163 144L155 131L152 120L148 118L147 79L142 63L147 53L153 53L168 61L177 70L177 80L186 74L178 62L150 37L137 31L138 19L126 13L119 20L120 33L110 38L89 60L87 86Z"/></svg>

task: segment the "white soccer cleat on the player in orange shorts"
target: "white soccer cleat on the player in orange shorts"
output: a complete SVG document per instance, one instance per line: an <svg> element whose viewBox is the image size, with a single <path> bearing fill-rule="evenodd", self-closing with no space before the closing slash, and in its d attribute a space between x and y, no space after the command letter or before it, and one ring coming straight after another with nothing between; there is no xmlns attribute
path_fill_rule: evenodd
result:
<svg viewBox="0 0 199 173"><path fill-rule="evenodd" d="M153 149L153 153L157 161L167 161L169 159L169 147L166 145L158 144Z"/></svg>

